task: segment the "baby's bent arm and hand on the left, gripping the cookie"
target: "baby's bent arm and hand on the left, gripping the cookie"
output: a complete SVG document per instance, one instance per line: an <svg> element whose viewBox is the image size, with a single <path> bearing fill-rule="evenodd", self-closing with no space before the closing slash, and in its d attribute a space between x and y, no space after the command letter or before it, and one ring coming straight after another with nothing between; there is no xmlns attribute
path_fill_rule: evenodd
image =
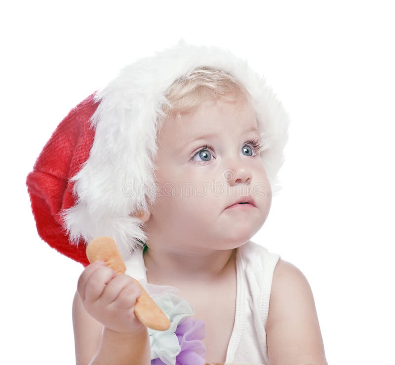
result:
<svg viewBox="0 0 395 365"><path fill-rule="evenodd" d="M133 314L141 291L130 280L98 263L79 277L73 302L77 365L150 364L147 327Z"/></svg>

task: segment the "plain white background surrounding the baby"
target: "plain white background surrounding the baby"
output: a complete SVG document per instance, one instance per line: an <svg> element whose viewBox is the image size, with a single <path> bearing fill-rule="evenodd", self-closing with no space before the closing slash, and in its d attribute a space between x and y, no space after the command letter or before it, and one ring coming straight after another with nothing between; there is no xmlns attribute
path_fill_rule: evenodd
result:
<svg viewBox="0 0 395 365"><path fill-rule="evenodd" d="M72 107L181 37L246 58L290 115L283 189L252 240L306 275L328 363L394 362L391 1L1 7L4 364L75 362L71 307L82 266L38 236L27 174Z"/></svg>

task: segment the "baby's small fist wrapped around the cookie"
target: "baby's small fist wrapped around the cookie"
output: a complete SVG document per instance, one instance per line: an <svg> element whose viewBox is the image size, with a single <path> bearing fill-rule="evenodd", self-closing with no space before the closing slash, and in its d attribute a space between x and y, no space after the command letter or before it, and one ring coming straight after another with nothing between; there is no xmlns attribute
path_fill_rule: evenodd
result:
<svg viewBox="0 0 395 365"><path fill-rule="evenodd" d="M136 333L145 328L134 315L141 288L125 274L117 274L97 261L79 276L77 291L86 312L119 333Z"/></svg>

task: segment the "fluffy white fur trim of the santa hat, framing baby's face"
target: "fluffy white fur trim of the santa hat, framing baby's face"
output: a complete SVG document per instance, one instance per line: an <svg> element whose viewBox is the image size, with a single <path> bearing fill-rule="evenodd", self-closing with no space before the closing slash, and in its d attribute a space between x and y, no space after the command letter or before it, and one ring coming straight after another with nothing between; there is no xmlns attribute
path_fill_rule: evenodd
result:
<svg viewBox="0 0 395 365"><path fill-rule="evenodd" d="M277 173L283 164L289 119L264 79L229 50L216 46L176 46L141 58L125 67L106 88L95 94L100 101L91 118L95 130L89 158L77 175L76 204L62 213L73 243L108 235L124 259L147 237L142 223L129 216L148 210L155 202L156 136L166 102L165 91L179 77L198 66L222 69L249 91L258 117L264 162L273 193L279 190ZM151 191L149 191L151 189Z"/></svg>

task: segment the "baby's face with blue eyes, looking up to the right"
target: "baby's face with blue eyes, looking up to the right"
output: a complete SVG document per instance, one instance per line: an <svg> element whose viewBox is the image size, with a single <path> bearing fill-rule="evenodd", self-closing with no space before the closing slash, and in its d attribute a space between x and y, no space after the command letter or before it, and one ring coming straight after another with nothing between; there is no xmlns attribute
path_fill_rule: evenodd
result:
<svg viewBox="0 0 395 365"><path fill-rule="evenodd" d="M249 101L205 103L181 120L170 115L158 135L159 196L146 223L148 245L202 252L247 242L272 201L262 159L249 143L254 139L260 136ZM205 145L212 148L199 151ZM255 207L226 209L242 196Z"/></svg>

